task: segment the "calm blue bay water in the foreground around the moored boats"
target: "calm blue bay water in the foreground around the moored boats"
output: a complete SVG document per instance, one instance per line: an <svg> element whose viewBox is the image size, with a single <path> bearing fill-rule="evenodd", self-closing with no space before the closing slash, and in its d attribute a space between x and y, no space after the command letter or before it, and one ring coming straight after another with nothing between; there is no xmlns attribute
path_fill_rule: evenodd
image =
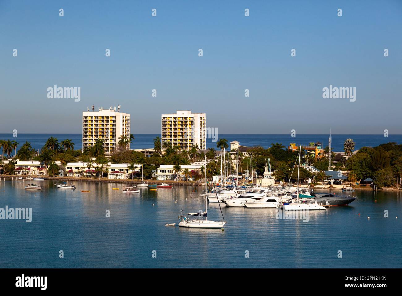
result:
<svg viewBox="0 0 402 296"><path fill-rule="evenodd" d="M402 267L400 192L357 192L350 206L312 211L307 223L276 219L275 209L222 207L222 231L164 226L180 209L203 209L199 187L126 194L122 184L76 182L70 190L45 180L35 181L43 191L25 192L28 182L0 181L0 207L33 209L31 223L0 220L0 268ZM219 205L208 207L210 219L221 218Z"/></svg>

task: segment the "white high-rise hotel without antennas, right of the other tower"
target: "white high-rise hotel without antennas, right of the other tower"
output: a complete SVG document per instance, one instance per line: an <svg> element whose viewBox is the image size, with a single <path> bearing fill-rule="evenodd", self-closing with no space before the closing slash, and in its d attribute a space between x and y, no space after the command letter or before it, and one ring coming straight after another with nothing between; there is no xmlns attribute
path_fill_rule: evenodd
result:
<svg viewBox="0 0 402 296"><path fill-rule="evenodd" d="M190 150L198 144L199 149L206 149L206 126L205 113L179 110L176 114L162 114L162 145L166 142L171 147Z"/></svg>

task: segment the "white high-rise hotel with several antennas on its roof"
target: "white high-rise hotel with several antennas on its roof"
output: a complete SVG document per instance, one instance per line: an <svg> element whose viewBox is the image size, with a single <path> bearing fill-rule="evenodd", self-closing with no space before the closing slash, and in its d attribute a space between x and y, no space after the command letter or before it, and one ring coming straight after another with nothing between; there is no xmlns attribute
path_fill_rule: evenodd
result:
<svg viewBox="0 0 402 296"><path fill-rule="evenodd" d="M130 114L121 113L120 108L110 107L99 111L82 112L82 151L90 149L97 139L103 139L103 149L106 155L116 149L119 137L130 139Z"/></svg>

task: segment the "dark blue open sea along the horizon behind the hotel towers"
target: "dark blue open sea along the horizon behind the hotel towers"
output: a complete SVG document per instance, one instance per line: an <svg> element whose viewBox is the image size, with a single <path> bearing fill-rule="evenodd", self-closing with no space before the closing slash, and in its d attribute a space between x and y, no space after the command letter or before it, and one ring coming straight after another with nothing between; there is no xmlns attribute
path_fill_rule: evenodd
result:
<svg viewBox="0 0 402 296"><path fill-rule="evenodd" d="M135 134L135 140L131 143L131 149L144 149L153 148L154 139L156 136L160 137L160 134ZM82 148L82 135L81 134L18 134L18 137L12 137L12 134L0 134L0 139L10 139L17 141L20 145L23 145L25 141L31 143L35 149L40 149L45 144L49 137L55 137L60 141L65 139L72 139L75 143L74 149ZM290 134L286 135L242 135L242 134L219 134L217 138L227 139L228 142L239 141L240 145L244 146L262 146L264 148L271 147L271 143L282 143L284 146L288 146L289 143L297 143L302 145L308 145L310 142L320 141L324 147L328 145L329 135L297 135L291 137ZM402 143L402 135L332 135L331 147L333 151L343 151L343 143L346 139L351 138L355 141L355 149L359 149L364 146L375 147L383 143L396 142ZM213 147L216 149L216 143L213 139L207 139L207 148Z"/></svg>

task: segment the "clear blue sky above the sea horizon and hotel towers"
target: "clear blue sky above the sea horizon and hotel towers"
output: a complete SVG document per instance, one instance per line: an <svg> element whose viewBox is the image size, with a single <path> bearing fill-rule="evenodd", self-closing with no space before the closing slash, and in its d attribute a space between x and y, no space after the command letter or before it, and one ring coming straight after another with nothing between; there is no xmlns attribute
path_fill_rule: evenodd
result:
<svg viewBox="0 0 402 296"><path fill-rule="evenodd" d="M0 0L0 132L80 133L88 106L120 104L132 133L192 110L220 133L402 134L401 37L400 0Z"/></svg>

